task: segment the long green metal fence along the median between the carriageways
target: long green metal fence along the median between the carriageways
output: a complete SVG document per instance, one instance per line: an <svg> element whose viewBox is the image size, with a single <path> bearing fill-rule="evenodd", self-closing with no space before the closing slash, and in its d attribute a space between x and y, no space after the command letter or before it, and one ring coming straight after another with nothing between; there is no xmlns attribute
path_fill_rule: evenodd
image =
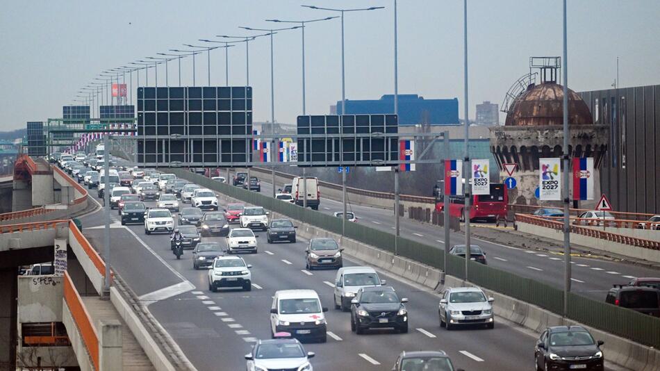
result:
<svg viewBox="0 0 660 371"><path fill-rule="evenodd" d="M317 226L333 233L341 233L342 221L339 217L302 208L294 204L282 202L258 192L249 192L242 188L229 186L213 179L184 169L172 169L180 178L194 181L200 186L222 192L224 195L240 199L249 204L263 206L270 211L286 215L292 219ZM364 224L346 223L347 238L352 238L387 252L395 252L395 235L386 231L371 228ZM443 248L427 245L408 238L397 239L397 252L400 256L414 261L443 269ZM447 255L447 274L463 279L465 277L465 260L457 256ZM488 265L468 262L468 279L477 286L500 292L529 304L545 308L561 315L563 313L563 291L547 283L534 279L520 277ZM636 343L660 347L660 318L631 311L627 308L613 306L604 302L570 293L568 302L568 318L588 326L622 336Z"/></svg>

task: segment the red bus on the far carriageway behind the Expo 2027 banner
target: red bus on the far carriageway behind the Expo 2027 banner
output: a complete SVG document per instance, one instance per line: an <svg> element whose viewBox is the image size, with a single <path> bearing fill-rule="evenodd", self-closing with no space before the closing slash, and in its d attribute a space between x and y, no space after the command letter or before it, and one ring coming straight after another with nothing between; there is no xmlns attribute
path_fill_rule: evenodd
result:
<svg viewBox="0 0 660 371"><path fill-rule="evenodd" d="M445 208L444 190L445 188L442 186L434 188L436 211L438 213L442 213ZM481 219L494 222L498 218L505 218L508 207L509 192L506 192L506 186L504 183L490 183L490 195L472 196L470 221ZM464 195L449 196L449 215L452 217L458 217L461 222L464 222L464 210Z"/></svg>

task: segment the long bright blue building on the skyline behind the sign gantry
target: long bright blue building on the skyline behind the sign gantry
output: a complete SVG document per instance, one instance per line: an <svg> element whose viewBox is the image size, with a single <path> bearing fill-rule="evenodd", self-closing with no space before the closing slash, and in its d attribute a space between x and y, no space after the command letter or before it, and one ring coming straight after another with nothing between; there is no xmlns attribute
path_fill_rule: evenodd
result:
<svg viewBox="0 0 660 371"><path fill-rule="evenodd" d="M399 94L399 125L412 126L456 125L459 124L459 100L454 99L424 99L418 94ZM342 102L330 107L332 114L343 114ZM394 113L394 95L383 95L374 100L346 100L346 111L349 115Z"/></svg>

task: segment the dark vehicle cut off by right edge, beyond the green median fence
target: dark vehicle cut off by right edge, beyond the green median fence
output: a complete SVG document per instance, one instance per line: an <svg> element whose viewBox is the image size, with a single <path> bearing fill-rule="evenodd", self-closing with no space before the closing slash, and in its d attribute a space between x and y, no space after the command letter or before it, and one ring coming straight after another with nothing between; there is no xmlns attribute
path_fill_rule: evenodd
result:
<svg viewBox="0 0 660 371"><path fill-rule="evenodd" d="M660 317L660 290L653 286L613 285L607 292L605 302Z"/></svg>

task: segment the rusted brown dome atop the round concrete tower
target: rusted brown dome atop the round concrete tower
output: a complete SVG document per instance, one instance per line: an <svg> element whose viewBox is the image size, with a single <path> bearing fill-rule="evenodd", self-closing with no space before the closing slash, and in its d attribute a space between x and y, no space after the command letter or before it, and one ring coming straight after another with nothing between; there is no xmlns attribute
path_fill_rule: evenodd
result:
<svg viewBox="0 0 660 371"><path fill-rule="evenodd" d="M593 124L588 106L576 92L570 89L568 89L568 124ZM504 125L563 125L563 87L552 82L530 85L509 107Z"/></svg>

